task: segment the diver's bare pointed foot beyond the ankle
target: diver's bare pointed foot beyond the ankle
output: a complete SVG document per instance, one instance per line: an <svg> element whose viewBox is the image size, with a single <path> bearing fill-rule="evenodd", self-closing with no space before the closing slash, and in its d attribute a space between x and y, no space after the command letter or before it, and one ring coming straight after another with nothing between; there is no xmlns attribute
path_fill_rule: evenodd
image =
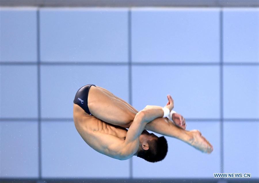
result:
<svg viewBox="0 0 259 183"><path fill-rule="evenodd" d="M201 135L199 130L191 130L190 132L193 135L193 139L190 142L191 146L209 154L213 151L213 146Z"/></svg>

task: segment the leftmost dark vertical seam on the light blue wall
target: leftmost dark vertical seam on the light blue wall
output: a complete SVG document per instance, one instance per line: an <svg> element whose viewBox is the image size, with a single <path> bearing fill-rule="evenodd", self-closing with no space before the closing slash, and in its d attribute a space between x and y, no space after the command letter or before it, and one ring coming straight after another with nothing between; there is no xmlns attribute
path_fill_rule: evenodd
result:
<svg viewBox="0 0 259 183"><path fill-rule="evenodd" d="M38 163L39 179L41 179L41 92L40 92L40 17L37 8L37 91L38 91Z"/></svg>

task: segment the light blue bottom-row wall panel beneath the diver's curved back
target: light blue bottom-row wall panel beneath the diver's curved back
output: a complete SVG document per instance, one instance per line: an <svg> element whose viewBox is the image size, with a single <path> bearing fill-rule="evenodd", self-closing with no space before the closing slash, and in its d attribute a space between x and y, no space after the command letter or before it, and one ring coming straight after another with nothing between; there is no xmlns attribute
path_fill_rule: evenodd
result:
<svg viewBox="0 0 259 183"><path fill-rule="evenodd" d="M44 178L129 177L129 160L120 161L93 150L73 122L48 121L41 125Z"/></svg>

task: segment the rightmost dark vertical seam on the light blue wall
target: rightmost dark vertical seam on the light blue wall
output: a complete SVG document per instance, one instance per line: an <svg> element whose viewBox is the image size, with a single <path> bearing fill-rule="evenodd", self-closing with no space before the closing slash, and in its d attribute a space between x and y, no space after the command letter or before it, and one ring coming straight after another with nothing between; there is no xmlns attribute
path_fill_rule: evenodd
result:
<svg viewBox="0 0 259 183"><path fill-rule="evenodd" d="M223 126L223 9L220 9L220 172L224 172L224 126Z"/></svg>

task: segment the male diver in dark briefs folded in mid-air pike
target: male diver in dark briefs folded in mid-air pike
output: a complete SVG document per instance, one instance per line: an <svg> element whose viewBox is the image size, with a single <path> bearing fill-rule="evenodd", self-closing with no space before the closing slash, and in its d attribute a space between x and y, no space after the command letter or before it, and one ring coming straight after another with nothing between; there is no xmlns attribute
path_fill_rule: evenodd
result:
<svg viewBox="0 0 259 183"><path fill-rule="evenodd" d="M185 119L172 111L174 100L170 95L167 99L164 108L146 106L137 111L108 90L85 85L74 99L75 127L90 147L119 160L138 156L157 162L165 158L168 148L165 137L146 130L178 138L202 152L211 153L212 145L198 130L185 130Z"/></svg>

